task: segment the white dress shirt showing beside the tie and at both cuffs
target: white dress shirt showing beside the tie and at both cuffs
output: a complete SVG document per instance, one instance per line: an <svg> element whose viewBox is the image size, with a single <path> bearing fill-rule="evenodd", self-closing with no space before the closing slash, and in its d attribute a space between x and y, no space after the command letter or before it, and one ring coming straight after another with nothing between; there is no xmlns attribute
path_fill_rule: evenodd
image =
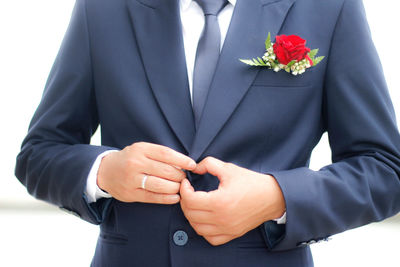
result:
<svg viewBox="0 0 400 267"><path fill-rule="evenodd" d="M218 24L221 32L221 47L222 49L229 24L231 22L233 10L237 0L228 0L228 4L218 14ZM197 44L204 27L204 13L201 7L193 0L180 0L180 16L182 23L182 36L185 48L186 67L188 73L190 96L193 102L193 69L196 59ZM97 172L103 157L109 153L106 151L100 154L94 162L86 183L86 197L88 202L96 202L99 198L110 198L111 195L105 193L97 186ZM286 222L286 213L276 220L278 223Z"/></svg>

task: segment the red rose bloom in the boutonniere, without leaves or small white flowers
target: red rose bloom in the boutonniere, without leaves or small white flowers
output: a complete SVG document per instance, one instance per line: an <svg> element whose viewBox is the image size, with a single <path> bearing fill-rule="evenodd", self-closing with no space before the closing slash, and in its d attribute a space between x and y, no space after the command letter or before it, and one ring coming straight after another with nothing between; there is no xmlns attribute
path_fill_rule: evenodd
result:
<svg viewBox="0 0 400 267"><path fill-rule="evenodd" d="M279 63L287 65L290 61L300 61L307 58L312 65L311 59L307 56L310 48L306 47L306 40L297 35L278 35L274 44L274 53Z"/></svg>

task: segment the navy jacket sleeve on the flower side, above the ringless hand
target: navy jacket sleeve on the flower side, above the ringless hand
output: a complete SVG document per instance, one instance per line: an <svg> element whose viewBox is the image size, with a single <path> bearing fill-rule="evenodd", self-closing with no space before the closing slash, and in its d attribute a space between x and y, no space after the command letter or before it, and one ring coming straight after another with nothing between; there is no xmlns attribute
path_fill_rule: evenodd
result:
<svg viewBox="0 0 400 267"><path fill-rule="evenodd" d="M400 137L361 0L344 1L329 53L323 117L333 163L319 171L270 173L287 208L285 233L271 242L274 250L323 240L400 210ZM270 223L264 228L273 236Z"/></svg>

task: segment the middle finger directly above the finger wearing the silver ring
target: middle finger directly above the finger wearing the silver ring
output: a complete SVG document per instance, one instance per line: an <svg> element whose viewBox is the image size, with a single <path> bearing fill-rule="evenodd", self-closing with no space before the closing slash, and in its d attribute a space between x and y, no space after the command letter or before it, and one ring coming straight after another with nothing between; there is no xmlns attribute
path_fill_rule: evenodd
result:
<svg viewBox="0 0 400 267"><path fill-rule="evenodd" d="M151 159L145 159L143 172L152 176L168 179L175 182L181 182L186 177L184 171L166 163Z"/></svg>

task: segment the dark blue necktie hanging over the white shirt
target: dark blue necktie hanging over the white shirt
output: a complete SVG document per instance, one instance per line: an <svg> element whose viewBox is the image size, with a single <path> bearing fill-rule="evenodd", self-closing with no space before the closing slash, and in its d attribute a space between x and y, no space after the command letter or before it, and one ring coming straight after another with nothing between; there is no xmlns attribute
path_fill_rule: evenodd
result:
<svg viewBox="0 0 400 267"><path fill-rule="evenodd" d="M205 16L204 29L197 45L193 70L193 111L196 128L198 128L220 53L221 32L219 30L217 15L228 1L195 1L203 9Z"/></svg>

